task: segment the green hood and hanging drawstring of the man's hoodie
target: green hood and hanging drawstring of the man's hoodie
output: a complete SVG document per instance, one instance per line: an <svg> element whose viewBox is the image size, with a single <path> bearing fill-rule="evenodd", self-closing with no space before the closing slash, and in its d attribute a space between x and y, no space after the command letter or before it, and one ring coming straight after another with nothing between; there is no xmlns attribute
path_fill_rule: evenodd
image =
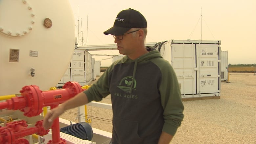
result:
<svg viewBox="0 0 256 144"><path fill-rule="evenodd" d="M133 76L132 78L134 79L135 77L135 74L136 74L136 68L137 68L137 64L138 63L146 63L148 61L150 61L151 59L154 59L154 58L162 58L161 54L159 51L157 50L154 50L154 51L149 51L148 53L138 57L137 59L130 59L128 56L125 56L121 59L121 63L133 63L134 62L134 67L133 67ZM132 84L131 84L131 88L130 88L130 91L129 93L131 94L132 93L132 87L133 87L133 80L132 80Z"/></svg>

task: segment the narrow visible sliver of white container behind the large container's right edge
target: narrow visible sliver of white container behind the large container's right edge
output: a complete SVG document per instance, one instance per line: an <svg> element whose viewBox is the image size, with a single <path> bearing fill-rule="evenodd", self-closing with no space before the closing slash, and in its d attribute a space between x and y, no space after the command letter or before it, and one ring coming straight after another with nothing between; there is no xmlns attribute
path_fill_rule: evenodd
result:
<svg viewBox="0 0 256 144"><path fill-rule="evenodd" d="M228 80L228 51L221 51L221 80Z"/></svg>

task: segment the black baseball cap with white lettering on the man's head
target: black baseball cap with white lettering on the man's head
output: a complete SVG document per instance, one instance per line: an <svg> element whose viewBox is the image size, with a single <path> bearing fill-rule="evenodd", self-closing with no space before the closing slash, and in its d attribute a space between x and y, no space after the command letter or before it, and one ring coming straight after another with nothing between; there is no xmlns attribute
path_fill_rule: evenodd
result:
<svg viewBox="0 0 256 144"><path fill-rule="evenodd" d="M145 17L134 9L122 10L118 13L114 26L104 32L104 34L122 35L131 28L146 28Z"/></svg>

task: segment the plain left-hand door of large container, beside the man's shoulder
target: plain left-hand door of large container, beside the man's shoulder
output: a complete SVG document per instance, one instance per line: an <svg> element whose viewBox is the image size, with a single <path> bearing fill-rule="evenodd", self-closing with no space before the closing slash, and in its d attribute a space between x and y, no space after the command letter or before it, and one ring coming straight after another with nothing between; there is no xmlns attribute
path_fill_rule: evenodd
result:
<svg viewBox="0 0 256 144"><path fill-rule="evenodd" d="M196 93L195 44L171 45L172 67L178 78L182 98ZM162 50L161 50L162 51ZM170 58L167 58L170 59Z"/></svg>

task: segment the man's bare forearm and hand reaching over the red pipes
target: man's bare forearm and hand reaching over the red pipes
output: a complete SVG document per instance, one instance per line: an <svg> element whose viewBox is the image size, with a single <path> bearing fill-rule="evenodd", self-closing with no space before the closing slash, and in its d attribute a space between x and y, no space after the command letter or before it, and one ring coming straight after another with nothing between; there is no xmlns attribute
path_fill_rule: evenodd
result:
<svg viewBox="0 0 256 144"><path fill-rule="evenodd" d="M78 106L82 106L88 103L88 98L85 93L78 93L73 98L65 101L60 104L58 107L51 109L49 113L46 114L43 121L44 129L49 129L52 127L53 120L59 117L62 113L64 113L68 109L76 108Z"/></svg>

